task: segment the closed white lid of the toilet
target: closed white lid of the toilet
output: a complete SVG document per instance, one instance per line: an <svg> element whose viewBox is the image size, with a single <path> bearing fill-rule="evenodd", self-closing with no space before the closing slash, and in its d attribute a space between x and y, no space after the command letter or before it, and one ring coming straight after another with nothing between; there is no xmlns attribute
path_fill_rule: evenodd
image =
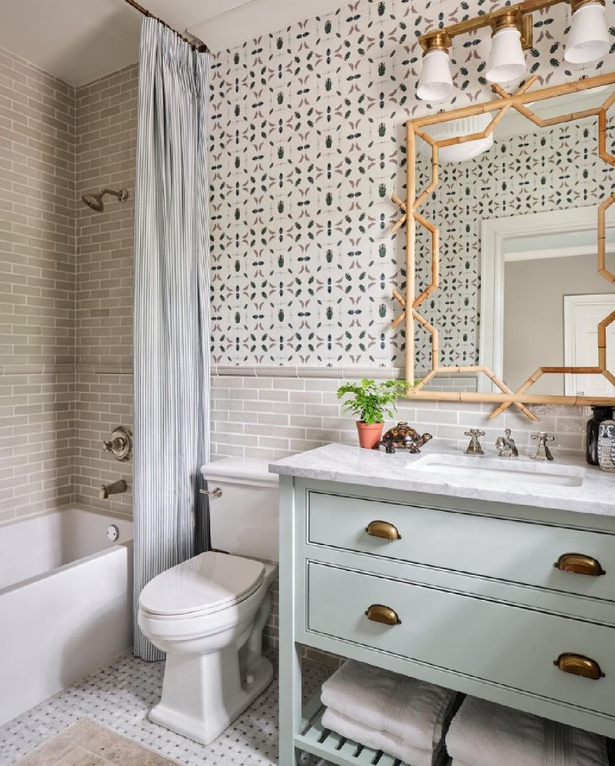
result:
<svg viewBox="0 0 615 766"><path fill-rule="evenodd" d="M207 552L150 580L139 604L160 615L200 614L236 604L263 583L260 561Z"/></svg>

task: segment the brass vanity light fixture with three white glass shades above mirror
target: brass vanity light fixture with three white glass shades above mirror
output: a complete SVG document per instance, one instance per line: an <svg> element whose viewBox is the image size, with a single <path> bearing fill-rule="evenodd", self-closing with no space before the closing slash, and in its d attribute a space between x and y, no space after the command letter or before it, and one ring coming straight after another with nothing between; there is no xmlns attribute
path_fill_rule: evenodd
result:
<svg viewBox="0 0 615 766"><path fill-rule="evenodd" d="M571 64L589 64L604 57L610 49L605 0L524 0L422 35L419 43L424 51L423 70L417 97L432 103L450 98L453 93L450 48L454 38L486 27L492 29L486 79L491 83L518 80L527 70L523 51L532 47L532 11L563 2L570 2L572 12L565 60Z"/></svg>

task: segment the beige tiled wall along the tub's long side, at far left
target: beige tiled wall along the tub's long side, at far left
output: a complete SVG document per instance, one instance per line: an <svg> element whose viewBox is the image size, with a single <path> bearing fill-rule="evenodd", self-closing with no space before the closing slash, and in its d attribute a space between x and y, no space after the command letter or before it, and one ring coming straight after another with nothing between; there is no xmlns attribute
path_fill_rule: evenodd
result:
<svg viewBox="0 0 615 766"><path fill-rule="evenodd" d="M0 522L73 491L74 97L0 50Z"/></svg>

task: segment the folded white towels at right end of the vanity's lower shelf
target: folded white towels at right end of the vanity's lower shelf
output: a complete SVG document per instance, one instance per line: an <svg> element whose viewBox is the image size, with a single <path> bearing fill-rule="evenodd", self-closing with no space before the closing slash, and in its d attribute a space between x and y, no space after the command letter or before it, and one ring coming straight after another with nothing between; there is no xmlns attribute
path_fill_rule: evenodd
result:
<svg viewBox="0 0 615 766"><path fill-rule="evenodd" d="M447 734L456 766L608 766L604 737L466 697Z"/></svg>

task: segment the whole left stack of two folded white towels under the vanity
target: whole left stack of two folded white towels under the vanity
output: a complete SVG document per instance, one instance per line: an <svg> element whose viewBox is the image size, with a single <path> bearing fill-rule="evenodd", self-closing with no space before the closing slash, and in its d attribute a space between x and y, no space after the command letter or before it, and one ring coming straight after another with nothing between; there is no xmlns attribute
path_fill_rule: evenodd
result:
<svg viewBox="0 0 615 766"><path fill-rule="evenodd" d="M347 660L322 685L320 699L325 728L412 766L433 766L456 693Z"/></svg>

